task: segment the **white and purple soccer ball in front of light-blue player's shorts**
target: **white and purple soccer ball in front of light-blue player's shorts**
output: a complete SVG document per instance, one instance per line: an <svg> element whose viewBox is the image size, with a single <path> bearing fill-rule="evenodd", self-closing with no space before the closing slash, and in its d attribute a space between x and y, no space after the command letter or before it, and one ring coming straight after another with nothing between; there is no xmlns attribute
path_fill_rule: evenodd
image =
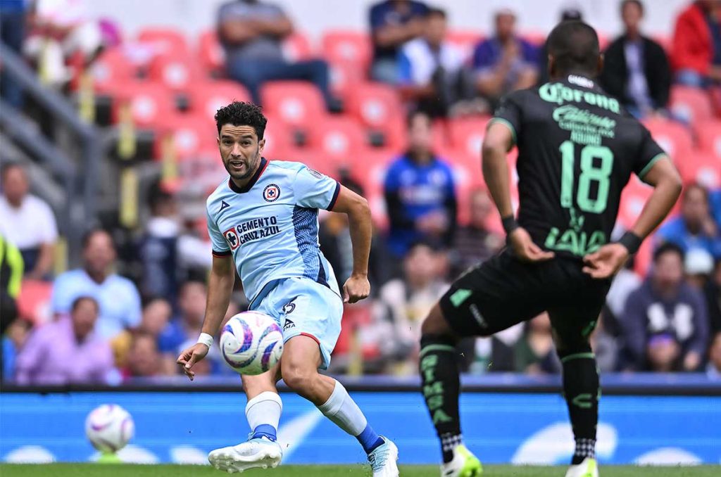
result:
<svg viewBox="0 0 721 477"><path fill-rule="evenodd" d="M283 330L265 313L238 313L223 328L221 352L242 375L265 373L283 355Z"/></svg>

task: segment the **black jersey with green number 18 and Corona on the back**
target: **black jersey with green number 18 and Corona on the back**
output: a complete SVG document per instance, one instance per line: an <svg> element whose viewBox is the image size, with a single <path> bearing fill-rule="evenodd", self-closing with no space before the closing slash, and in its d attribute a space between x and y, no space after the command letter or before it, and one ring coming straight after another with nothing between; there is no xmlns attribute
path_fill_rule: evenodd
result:
<svg viewBox="0 0 721 477"><path fill-rule="evenodd" d="M590 79L513 92L492 122L518 146L518 223L536 244L572 257L606 244L631 173L665 156L648 130Z"/></svg>

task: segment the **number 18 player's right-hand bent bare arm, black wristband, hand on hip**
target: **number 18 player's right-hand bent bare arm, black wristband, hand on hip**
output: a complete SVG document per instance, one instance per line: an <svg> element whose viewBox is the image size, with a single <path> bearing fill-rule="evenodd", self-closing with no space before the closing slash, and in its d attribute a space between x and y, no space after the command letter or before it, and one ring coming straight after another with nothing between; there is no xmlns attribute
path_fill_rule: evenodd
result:
<svg viewBox="0 0 721 477"><path fill-rule="evenodd" d="M668 157L656 161L643 177L643 181L653 186L653 193L631 228L632 235L628 236L638 245L663 222L681 195L681 177ZM593 278L609 278L619 272L628 257L627 245L620 242L604 245L595 253L583 257L586 264L583 271Z"/></svg>

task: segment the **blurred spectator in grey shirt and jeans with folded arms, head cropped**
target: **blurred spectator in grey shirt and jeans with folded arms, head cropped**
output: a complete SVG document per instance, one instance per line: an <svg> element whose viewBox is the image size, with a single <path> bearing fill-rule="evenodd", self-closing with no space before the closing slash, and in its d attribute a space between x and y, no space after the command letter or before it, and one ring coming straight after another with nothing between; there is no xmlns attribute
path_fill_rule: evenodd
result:
<svg viewBox="0 0 721 477"><path fill-rule="evenodd" d="M255 104L265 81L296 79L318 86L328 110L337 110L330 94L328 65L322 60L289 63L283 58L283 38L293 23L280 6L259 0L234 0L218 10L218 36L226 50L229 76L248 89Z"/></svg>

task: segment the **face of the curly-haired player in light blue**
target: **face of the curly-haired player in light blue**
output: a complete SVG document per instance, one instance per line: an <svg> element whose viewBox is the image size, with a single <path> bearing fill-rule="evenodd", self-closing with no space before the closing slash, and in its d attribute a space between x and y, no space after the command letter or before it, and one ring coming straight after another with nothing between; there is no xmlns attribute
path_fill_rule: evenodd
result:
<svg viewBox="0 0 721 477"><path fill-rule="evenodd" d="M265 139L258 141L255 128L224 124L218 138L223 165L236 181L249 179L260 164Z"/></svg>

